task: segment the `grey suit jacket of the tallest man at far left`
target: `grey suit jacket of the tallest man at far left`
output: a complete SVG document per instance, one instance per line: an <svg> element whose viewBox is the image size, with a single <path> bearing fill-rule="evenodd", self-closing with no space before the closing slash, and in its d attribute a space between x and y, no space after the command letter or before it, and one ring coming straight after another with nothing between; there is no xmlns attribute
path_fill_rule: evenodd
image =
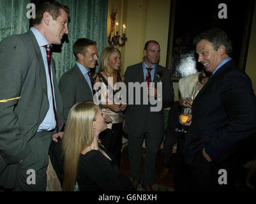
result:
<svg viewBox="0 0 256 204"><path fill-rule="evenodd" d="M14 187L17 163L31 152L29 140L49 110L47 81L40 47L31 31L13 35L0 43L0 186ZM52 59L54 90L63 127L63 104ZM7 172L8 171L8 172Z"/></svg>

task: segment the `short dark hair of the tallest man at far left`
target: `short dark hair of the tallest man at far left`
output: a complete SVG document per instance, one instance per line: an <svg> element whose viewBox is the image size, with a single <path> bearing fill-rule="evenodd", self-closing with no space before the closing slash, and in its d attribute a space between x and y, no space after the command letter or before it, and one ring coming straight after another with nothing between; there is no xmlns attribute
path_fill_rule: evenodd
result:
<svg viewBox="0 0 256 204"><path fill-rule="evenodd" d="M49 12L52 15L52 19L56 20L59 15L61 15L61 9L63 9L66 14L70 13L70 9L68 6L64 6L63 4L54 1L39 1L36 3L36 18L33 20L33 25L38 25L41 23L41 19L43 18L43 13Z"/></svg>

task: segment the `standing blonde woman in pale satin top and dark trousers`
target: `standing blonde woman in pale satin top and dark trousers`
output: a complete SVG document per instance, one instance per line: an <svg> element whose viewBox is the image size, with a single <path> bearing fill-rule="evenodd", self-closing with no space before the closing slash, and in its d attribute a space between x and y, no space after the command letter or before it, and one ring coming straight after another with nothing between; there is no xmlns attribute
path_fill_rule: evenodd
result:
<svg viewBox="0 0 256 204"><path fill-rule="evenodd" d="M100 71L97 74L96 82L102 82L107 89L102 89L102 112L109 115L112 123L107 124L107 128L112 129L112 134L102 136L102 142L115 159L117 166L121 164L121 148L123 133L123 117L121 112L126 109L127 105L119 103L123 97L121 87L115 87L116 83L124 82L124 77L120 73L121 52L114 47L106 47L100 56ZM112 83L111 83L112 80ZM108 92L112 90L112 92ZM109 95L108 95L109 94ZM112 95L112 96L110 96ZM118 98L118 103L115 101ZM105 103L104 103L105 102Z"/></svg>

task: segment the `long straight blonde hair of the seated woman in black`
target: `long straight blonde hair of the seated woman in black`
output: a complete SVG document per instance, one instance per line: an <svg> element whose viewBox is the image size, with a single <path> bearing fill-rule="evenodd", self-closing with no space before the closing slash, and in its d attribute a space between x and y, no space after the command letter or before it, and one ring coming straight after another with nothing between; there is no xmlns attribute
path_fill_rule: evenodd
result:
<svg viewBox="0 0 256 204"><path fill-rule="evenodd" d="M68 113L62 139L64 154L63 191L73 191L80 152L93 143L93 121L99 107L93 101L74 105Z"/></svg>

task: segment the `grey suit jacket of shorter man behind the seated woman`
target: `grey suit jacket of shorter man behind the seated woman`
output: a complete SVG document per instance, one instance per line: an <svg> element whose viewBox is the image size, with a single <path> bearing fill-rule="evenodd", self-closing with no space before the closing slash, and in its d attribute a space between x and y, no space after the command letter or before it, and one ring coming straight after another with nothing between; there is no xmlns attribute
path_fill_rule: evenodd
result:
<svg viewBox="0 0 256 204"><path fill-rule="evenodd" d="M70 108L82 101L93 101L93 93L84 75L77 64L72 69L66 71L59 80L59 90L63 99L64 121L68 119Z"/></svg>

